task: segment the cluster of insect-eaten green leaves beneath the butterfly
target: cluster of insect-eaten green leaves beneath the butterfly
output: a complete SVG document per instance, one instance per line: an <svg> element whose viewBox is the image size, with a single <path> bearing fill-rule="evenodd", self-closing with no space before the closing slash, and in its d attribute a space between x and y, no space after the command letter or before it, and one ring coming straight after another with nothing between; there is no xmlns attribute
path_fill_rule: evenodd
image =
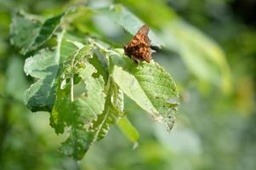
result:
<svg viewBox="0 0 256 170"><path fill-rule="evenodd" d="M128 13L122 6L109 8ZM50 125L55 132L69 133L62 143L61 153L77 160L82 159L91 144L103 139L110 125L116 124L124 115L122 93L156 120L165 122L169 129L174 126L177 106L174 101L179 96L172 77L154 61L137 65L123 56L122 50L112 48L110 44L109 49L105 48L98 38L92 39L90 35L78 37L79 32L67 28L72 22L69 17L83 10L86 9L75 8L70 16L66 12L67 16L59 14L43 23L29 14L18 13L14 15L11 26L11 42L21 49L20 53L35 50L34 56L27 58L24 66L26 75L37 78L37 82L26 91L26 105L31 111L51 113ZM95 11L105 14L105 9ZM122 16L114 11L108 11L113 20ZM130 22L131 18L139 20L128 13L122 23ZM139 28L141 24L132 22L124 28L131 31L132 27ZM56 45L39 49L51 37L56 40ZM152 44L160 45L160 40L155 39L152 38ZM97 68L99 65L90 63L90 59L99 59L100 54L105 60ZM104 64L105 75L108 75L106 82L98 71Z"/></svg>

